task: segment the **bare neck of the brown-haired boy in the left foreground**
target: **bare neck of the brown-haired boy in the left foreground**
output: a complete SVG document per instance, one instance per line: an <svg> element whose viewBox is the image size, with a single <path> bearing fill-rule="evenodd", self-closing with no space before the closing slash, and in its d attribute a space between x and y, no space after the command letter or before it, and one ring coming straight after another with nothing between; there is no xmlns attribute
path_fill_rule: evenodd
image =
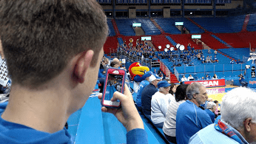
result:
<svg viewBox="0 0 256 144"><path fill-rule="evenodd" d="M64 128L70 116L67 95L61 88L31 90L15 85L1 117L38 131L54 133Z"/></svg>

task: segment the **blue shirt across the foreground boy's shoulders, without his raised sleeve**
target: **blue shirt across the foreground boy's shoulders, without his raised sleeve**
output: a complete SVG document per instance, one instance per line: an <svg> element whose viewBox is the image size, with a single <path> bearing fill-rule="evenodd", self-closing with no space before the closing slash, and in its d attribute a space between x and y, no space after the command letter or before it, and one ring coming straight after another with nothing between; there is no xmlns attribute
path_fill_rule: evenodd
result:
<svg viewBox="0 0 256 144"><path fill-rule="evenodd" d="M0 103L0 115L4 112L7 103ZM18 123L10 123L0 117L0 142L4 143L68 143L71 144L71 136L64 128L53 134L37 131L36 129L20 125Z"/></svg>

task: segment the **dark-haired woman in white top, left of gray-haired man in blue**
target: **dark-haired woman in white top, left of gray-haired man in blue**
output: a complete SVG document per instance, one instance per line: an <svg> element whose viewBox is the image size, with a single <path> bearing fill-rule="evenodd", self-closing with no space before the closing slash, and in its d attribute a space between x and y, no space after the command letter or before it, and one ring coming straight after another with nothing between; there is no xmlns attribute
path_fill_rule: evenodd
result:
<svg viewBox="0 0 256 144"><path fill-rule="evenodd" d="M163 131L166 139L171 143L176 143L176 114L178 106L186 100L186 88L188 84L181 84L177 87L175 100L169 103L164 121Z"/></svg>

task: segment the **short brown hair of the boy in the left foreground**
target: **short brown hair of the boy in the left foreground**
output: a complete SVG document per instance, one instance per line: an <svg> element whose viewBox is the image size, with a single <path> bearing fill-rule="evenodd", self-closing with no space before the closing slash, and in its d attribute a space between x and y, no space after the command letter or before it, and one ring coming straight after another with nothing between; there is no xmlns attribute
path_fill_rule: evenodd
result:
<svg viewBox="0 0 256 144"><path fill-rule="evenodd" d="M79 52L92 49L97 59L107 32L95 0L0 1L4 56L13 82L22 86L54 78Z"/></svg>

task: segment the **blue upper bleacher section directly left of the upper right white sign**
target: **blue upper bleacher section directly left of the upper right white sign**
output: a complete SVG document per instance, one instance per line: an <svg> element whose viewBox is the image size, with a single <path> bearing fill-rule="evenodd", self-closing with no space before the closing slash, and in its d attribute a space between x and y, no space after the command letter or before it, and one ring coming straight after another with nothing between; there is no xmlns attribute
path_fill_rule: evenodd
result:
<svg viewBox="0 0 256 144"><path fill-rule="evenodd" d="M181 31L175 27L175 22L177 21L175 21L174 18L155 18L155 21L160 25L164 32L181 34Z"/></svg>

